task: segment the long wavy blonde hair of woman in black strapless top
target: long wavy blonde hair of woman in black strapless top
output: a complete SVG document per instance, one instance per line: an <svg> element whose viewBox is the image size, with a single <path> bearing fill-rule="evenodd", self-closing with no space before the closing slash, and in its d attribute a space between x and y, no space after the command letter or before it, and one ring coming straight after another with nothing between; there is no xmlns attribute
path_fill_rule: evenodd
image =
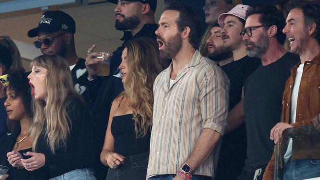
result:
<svg viewBox="0 0 320 180"><path fill-rule="evenodd" d="M152 124L153 83L163 70L165 63L160 60L158 44L155 40L136 38L129 41L125 47L128 49L129 71L124 83L125 91L121 95L129 99L136 137L143 137Z"/></svg>

